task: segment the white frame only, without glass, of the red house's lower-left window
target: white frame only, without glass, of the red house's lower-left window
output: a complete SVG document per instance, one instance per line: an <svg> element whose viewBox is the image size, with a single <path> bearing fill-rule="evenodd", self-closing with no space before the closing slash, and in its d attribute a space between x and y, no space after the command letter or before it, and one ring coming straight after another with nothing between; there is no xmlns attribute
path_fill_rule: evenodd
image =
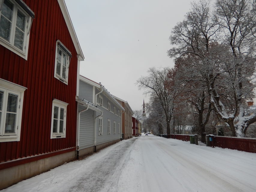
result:
<svg viewBox="0 0 256 192"><path fill-rule="evenodd" d="M3 91L2 106L0 106L0 142L20 141L23 99L26 89L26 87L21 85L0 79L0 91ZM16 112L7 111L9 94L17 95ZM16 114L14 132L11 133L5 133L7 113Z"/></svg>

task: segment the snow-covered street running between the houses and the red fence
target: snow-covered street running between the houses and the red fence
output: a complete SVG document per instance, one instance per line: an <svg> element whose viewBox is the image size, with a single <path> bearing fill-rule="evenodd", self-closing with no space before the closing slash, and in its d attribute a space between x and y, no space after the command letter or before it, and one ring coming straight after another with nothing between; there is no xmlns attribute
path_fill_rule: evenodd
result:
<svg viewBox="0 0 256 192"><path fill-rule="evenodd" d="M256 154L142 134L2 191L253 192L255 181Z"/></svg>

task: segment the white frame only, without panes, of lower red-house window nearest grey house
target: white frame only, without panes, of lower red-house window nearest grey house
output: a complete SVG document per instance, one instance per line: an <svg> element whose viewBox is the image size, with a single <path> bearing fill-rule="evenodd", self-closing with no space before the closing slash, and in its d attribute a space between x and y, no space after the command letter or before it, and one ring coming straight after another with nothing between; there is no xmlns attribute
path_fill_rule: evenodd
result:
<svg viewBox="0 0 256 192"><path fill-rule="evenodd" d="M53 99L53 107L52 107L52 123L51 123L51 139L56 139L56 138L65 138L66 137L66 122L67 122L67 106L68 103L65 103L63 101L60 101L58 99ZM53 121L54 121L54 107L58 107L58 124L57 124L57 132L53 133ZM64 119L63 119L63 133L59 132L59 125L60 121L60 110L64 109ZM56 119L55 119L56 120Z"/></svg>

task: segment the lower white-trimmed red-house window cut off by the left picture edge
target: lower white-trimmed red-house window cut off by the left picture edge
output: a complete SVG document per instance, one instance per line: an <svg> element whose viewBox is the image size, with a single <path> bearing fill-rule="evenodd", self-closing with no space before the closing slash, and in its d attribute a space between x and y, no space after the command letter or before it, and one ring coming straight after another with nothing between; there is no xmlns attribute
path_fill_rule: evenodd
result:
<svg viewBox="0 0 256 192"><path fill-rule="evenodd" d="M20 141L25 87L0 79L0 142Z"/></svg>

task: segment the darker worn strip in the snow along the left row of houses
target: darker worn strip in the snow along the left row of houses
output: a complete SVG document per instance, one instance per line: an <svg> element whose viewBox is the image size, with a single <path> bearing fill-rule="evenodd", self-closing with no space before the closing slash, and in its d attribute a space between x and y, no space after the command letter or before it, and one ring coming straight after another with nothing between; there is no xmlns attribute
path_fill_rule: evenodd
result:
<svg viewBox="0 0 256 192"><path fill-rule="evenodd" d="M128 156L136 140L135 138L129 139L126 143L113 148L104 159L95 161L89 170L84 170L84 174L80 176L76 184L71 186L67 191L113 191L121 174L121 171L118 170L127 163ZM114 173L115 176L113 176ZM116 174L119 175L117 176Z"/></svg>

